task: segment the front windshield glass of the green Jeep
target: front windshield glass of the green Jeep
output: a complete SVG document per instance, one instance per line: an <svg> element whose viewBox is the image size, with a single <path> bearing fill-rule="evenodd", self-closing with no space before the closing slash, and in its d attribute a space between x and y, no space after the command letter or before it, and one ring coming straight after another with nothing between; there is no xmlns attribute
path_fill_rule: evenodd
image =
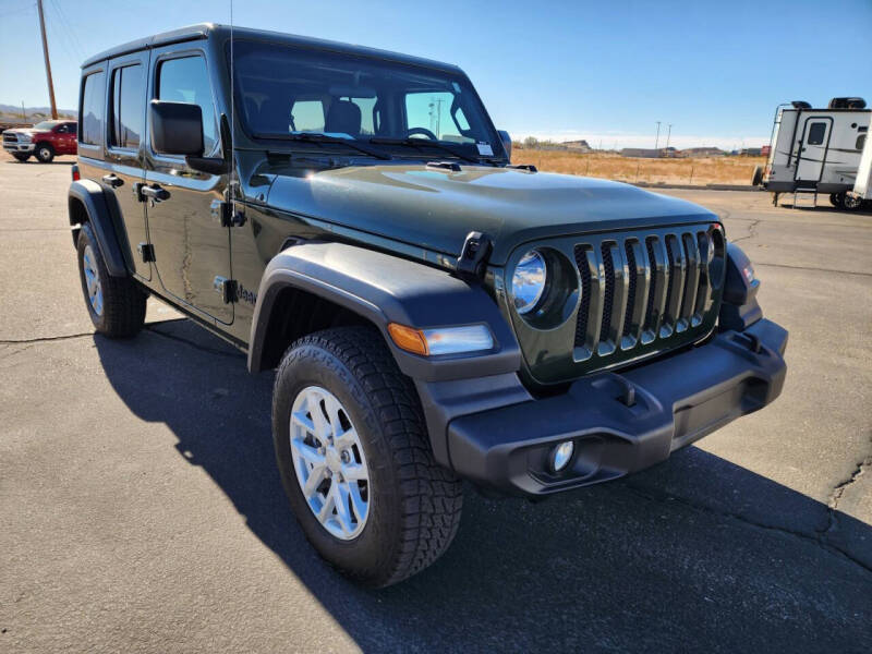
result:
<svg viewBox="0 0 872 654"><path fill-rule="evenodd" d="M400 156L505 158L461 73L251 40L233 57L237 110L255 138L312 147L295 136L325 134Z"/></svg>

